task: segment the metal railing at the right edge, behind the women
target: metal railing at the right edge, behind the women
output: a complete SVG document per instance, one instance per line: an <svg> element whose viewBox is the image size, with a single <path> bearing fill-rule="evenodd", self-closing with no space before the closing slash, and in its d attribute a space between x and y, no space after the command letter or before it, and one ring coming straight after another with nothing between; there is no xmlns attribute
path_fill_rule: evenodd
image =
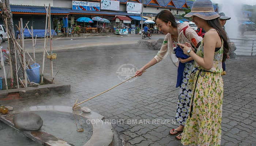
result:
<svg viewBox="0 0 256 146"><path fill-rule="evenodd" d="M234 42L236 55L256 55L256 39L229 39Z"/></svg>

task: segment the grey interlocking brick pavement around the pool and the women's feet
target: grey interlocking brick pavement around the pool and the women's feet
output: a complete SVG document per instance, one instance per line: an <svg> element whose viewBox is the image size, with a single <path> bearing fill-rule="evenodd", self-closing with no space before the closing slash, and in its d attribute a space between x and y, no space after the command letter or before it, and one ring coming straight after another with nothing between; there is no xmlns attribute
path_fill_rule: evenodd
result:
<svg viewBox="0 0 256 146"><path fill-rule="evenodd" d="M56 78L71 84L71 93L3 101L1 104L13 107L72 106L76 99L81 102L122 82L121 66L136 71L156 53L156 50L135 45L58 52L53 61L54 73L59 70ZM40 53L36 56L42 58ZM256 145L255 62L256 56L237 56L226 61L222 146ZM49 60L45 70L45 74L50 74ZM112 120L124 146L181 146L175 136L168 135L171 128L178 126L174 120L178 98L176 72L177 68L166 58L136 80L125 82L81 105Z"/></svg>

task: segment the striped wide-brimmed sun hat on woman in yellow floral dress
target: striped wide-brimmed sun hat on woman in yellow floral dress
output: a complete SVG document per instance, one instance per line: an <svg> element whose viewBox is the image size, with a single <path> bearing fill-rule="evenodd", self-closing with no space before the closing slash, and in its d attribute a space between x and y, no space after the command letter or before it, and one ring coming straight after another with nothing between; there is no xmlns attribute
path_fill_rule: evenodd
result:
<svg viewBox="0 0 256 146"><path fill-rule="evenodd" d="M191 12L184 17L197 16L204 20L212 20L219 18L219 14L214 11L212 2L210 0L196 0L191 8Z"/></svg>

